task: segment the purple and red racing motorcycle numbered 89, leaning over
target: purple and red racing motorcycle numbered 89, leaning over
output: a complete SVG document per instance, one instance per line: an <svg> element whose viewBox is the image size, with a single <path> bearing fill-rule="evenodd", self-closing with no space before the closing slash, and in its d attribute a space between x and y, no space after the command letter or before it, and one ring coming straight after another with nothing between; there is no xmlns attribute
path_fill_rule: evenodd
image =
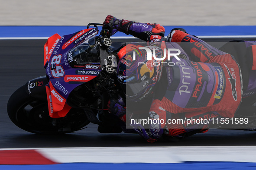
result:
<svg viewBox="0 0 256 170"><path fill-rule="evenodd" d="M87 29L48 39L44 45L46 76L28 81L8 101L7 112L16 126L36 134L60 134L95 123L100 133L134 133L107 109L111 97L123 95L115 72L117 54L126 43L112 43L103 31L97 36L97 25L102 24L90 23ZM244 96L238 115L246 112L256 117L253 94ZM255 128L256 120L249 124L240 129Z"/></svg>

